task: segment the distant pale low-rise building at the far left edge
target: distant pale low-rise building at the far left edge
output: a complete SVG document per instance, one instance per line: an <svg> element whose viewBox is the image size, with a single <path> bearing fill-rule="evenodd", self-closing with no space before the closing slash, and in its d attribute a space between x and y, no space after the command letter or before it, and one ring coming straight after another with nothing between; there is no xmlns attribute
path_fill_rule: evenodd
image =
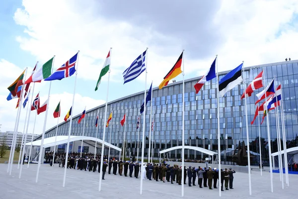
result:
<svg viewBox="0 0 298 199"><path fill-rule="evenodd" d="M5 146L11 147L11 145L12 145L12 139L13 139L13 134L14 134L13 131L0 132L0 144L3 145L3 143L4 143ZM23 135L24 135L23 133L17 132L17 135L16 135L16 146L21 146L21 144L22 144L22 136ZM32 137L33 137L33 140L34 140L38 136L39 135L37 135L37 134L27 133L26 143L27 142L31 142Z"/></svg>

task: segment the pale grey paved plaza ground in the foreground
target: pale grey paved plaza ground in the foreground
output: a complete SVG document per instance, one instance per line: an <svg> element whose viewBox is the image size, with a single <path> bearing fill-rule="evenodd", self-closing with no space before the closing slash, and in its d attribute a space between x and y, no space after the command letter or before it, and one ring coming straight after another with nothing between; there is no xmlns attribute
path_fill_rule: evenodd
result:
<svg viewBox="0 0 298 199"><path fill-rule="evenodd" d="M106 174L102 182L102 191L98 192L99 173L67 170L66 187L62 187L64 169L58 165L50 167L42 165L39 182L35 183L37 164L31 164L29 169L24 165L22 178L18 179L19 170L13 165L11 176L6 173L7 165L0 164L0 199L128 199L137 198L165 198L176 199L181 197L181 186L166 182L143 182L143 195L140 196L140 179ZM266 168L267 169L267 168ZM267 169L268 171L268 169ZM140 177L140 176L139 176ZM234 189L222 192L222 199L259 199L293 198L297 196L296 185L298 175L290 175L290 187L285 185L282 190L279 174L274 173L274 193L270 192L270 174L253 171L252 196L248 192L248 174L237 172L234 174ZM187 181L187 180L186 180ZM186 182L187 183L187 182ZM197 179L196 179L197 183ZM184 186L184 198L212 198L219 197L218 189L200 189L199 186Z"/></svg>

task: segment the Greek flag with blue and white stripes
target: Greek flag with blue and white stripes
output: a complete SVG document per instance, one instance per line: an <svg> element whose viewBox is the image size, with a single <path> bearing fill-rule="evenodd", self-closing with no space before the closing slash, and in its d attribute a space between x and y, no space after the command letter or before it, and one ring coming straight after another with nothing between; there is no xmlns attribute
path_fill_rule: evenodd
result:
<svg viewBox="0 0 298 199"><path fill-rule="evenodd" d="M143 73L146 70L146 53L147 50L142 53L132 64L130 67L128 67L128 69L126 69L123 72L123 79L124 79L124 83L128 83L134 79L136 79L137 77L139 77L139 75L141 75L141 73Z"/></svg>

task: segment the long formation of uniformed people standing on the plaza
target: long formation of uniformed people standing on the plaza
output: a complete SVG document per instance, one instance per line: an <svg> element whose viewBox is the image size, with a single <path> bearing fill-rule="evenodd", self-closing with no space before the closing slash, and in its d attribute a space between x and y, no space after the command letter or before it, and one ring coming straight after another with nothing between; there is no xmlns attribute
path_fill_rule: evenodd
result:
<svg viewBox="0 0 298 199"><path fill-rule="evenodd" d="M69 153L68 162L66 164L66 154L65 153L55 153L55 158L53 160L53 153L46 153L45 159L46 161L50 161L50 165L52 166L54 163L59 163L59 167L67 167L70 169L76 170L84 170L89 172L96 172L102 174L102 179L105 178L105 173L108 174L119 174L122 176L124 174L125 177L130 178L141 178L155 180L156 182L160 181L163 183L170 182L171 184L186 185L186 179L188 179L188 186L196 186L199 185L200 188L209 187L210 190L218 189L218 179L219 174L221 174L221 190L229 190L233 189L233 174L235 173L232 168L229 170L224 169L219 170L217 168L212 169L209 167L208 169L202 167L191 167L189 166L182 169L182 165L179 167L178 165L170 165L163 162L162 164L155 163L147 163L141 165L140 162L135 161L135 157L130 158L132 161L122 161L118 160L116 157L110 157L108 161L108 156L104 155L103 157L103 167L100 168L101 155L92 154L92 153L82 153L80 157L80 153ZM108 170L108 171L107 171ZM124 171L124 172L123 172ZM112 173L111 173L112 172ZM182 179L182 172L184 172L184 179ZM198 179L198 181L196 181ZM182 182L183 181L183 182Z"/></svg>

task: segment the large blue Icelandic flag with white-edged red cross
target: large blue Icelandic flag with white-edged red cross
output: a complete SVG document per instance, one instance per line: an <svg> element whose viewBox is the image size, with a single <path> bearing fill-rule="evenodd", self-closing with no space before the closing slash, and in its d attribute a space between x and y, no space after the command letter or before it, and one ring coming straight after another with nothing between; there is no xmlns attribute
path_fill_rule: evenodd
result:
<svg viewBox="0 0 298 199"><path fill-rule="evenodd" d="M63 64L59 69L57 69L50 77L45 79L44 81L53 81L53 80L62 80L64 78L71 77L74 75L76 71L76 60L77 60L77 53L68 60L65 64Z"/></svg>

